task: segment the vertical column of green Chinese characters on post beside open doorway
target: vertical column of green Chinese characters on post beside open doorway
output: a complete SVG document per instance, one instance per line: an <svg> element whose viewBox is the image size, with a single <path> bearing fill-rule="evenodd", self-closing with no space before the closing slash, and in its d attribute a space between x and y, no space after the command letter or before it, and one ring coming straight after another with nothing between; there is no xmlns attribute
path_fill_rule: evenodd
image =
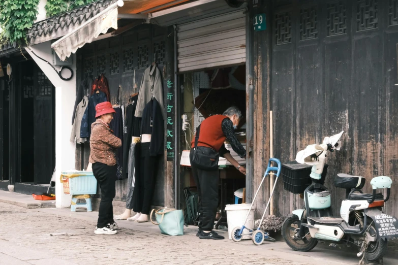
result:
<svg viewBox="0 0 398 265"><path fill-rule="evenodd" d="M174 84L170 79L167 80L166 89L166 151L167 161L174 160Z"/></svg>

